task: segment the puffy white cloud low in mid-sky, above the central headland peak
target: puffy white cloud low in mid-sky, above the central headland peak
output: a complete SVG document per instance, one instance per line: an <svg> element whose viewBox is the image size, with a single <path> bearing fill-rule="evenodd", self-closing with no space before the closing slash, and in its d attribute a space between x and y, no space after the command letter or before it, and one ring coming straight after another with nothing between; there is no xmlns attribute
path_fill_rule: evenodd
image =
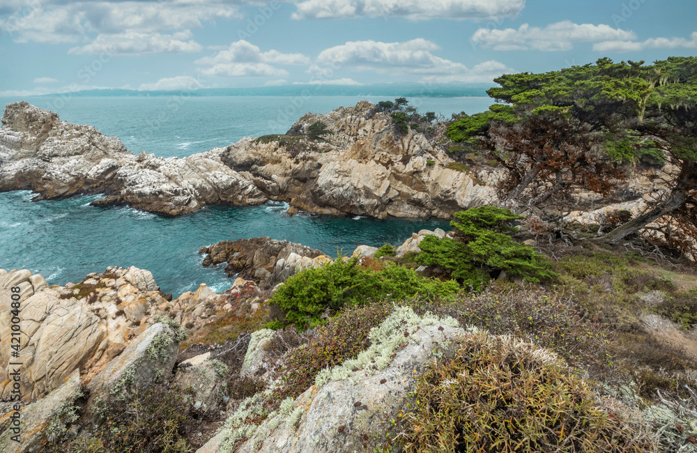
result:
<svg viewBox="0 0 697 453"><path fill-rule="evenodd" d="M442 59L431 53L438 49L438 45L423 38L404 43L355 41L323 50L317 57L317 62L333 69L350 67L376 72L399 70L414 74L454 73L467 69L461 63ZM322 73L321 71L331 72L317 66L310 68L310 72Z"/></svg>

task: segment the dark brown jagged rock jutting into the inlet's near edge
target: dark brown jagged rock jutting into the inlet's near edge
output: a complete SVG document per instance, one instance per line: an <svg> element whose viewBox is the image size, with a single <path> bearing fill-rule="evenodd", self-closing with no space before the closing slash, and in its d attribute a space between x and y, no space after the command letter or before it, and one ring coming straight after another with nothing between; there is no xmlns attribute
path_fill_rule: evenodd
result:
<svg viewBox="0 0 697 453"><path fill-rule="evenodd" d="M266 236L224 240L210 247L202 247L199 253L206 254L204 266L227 261L225 272L229 277L239 275L244 279L252 279L261 289L272 288L284 282L298 270L321 266L330 261L319 250Z"/></svg>

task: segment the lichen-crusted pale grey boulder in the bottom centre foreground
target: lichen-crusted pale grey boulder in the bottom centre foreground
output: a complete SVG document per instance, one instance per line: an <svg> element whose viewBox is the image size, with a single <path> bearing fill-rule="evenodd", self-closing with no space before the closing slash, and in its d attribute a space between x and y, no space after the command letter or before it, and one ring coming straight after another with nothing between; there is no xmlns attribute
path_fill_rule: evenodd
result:
<svg viewBox="0 0 697 453"><path fill-rule="evenodd" d="M434 351L442 353L466 335L457 325L452 318L421 318L399 308L371 331L372 345L358 358L321 371L312 387L284 401L279 413L258 426L247 420L262 410L260 394L243 401L198 453L364 450L366 439L384 438L385 415L395 417L406 408L406 396Z"/></svg>

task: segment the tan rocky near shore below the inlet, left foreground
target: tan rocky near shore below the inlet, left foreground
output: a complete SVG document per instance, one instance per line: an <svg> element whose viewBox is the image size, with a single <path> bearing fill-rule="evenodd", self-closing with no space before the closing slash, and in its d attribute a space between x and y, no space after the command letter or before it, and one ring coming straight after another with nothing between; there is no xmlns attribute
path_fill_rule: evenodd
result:
<svg viewBox="0 0 697 453"><path fill-rule="evenodd" d="M414 233L398 251L417 251L424 236L443 233ZM370 256L376 250L362 245L353 255ZM269 318L268 299L279 284L304 268L332 261L319 250L266 237L222 241L202 247L201 253L206 254L204 265L227 262L226 272L238 275L227 291L215 293L201 284L197 291L173 299L160 291L151 272L135 267L110 267L87 275L77 284L63 286L49 286L43 276L29 270L0 269L2 344L9 344L12 336L11 295L13 288L20 289L20 325L24 333L21 392L24 404L29 404L23 409L24 429L31 431L21 445L11 443L7 428L12 405L0 403L0 413L4 414L0 416L3 452L35 451L46 439L45 429L63 417L61 411L66 404L80 399L82 416L92 420L105 401L116 401L115 388L119 392L146 390L160 384L162 376L168 385L181 391L194 385L197 390L191 399L192 408L224 407L216 390L221 383L222 363L217 359L235 348L236 357L250 356L244 365L240 363L239 372L252 376L267 360L264 343L254 343L247 351L250 335L241 335L240 339L246 341L241 346L234 344L220 350L220 346L194 345L181 355L178 346L186 332L204 330L226 316ZM158 352L162 360L153 361L152 345L165 337L167 346ZM15 360L10 352L10 348L0 350L0 368L7 373ZM405 353L405 357L410 355ZM420 360L425 362L426 358ZM134 372L135 377L131 376ZM0 399L8 401L12 389L10 380L0 383ZM220 451L219 441L220 436L216 436L199 451Z"/></svg>

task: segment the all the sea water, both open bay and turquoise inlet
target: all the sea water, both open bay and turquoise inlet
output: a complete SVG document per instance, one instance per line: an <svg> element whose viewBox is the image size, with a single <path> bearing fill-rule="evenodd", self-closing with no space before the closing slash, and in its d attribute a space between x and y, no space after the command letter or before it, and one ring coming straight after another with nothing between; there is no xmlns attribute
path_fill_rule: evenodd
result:
<svg viewBox="0 0 697 453"><path fill-rule="evenodd" d="M385 98L367 98L372 102ZM0 98L0 105L15 98ZM307 112L326 113L360 98L326 96L221 98L24 98L52 109L61 119L90 124L120 138L130 151L184 157L243 137L283 133ZM418 98L420 112L482 112L489 98ZM211 206L177 218L131 208L96 208L98 197L30 201L30 192L0 193L0 268L42 274L50 284L79 282L107 266L137 266L153 272L165 293L179 295L207 283L216 291L231 280L222 266L204 268L200 247L220 240L270 236L335 256L361 244L398 245L412 232L441 227L441 220L372 220L301 213L289 217L286 204Z"/></svg>

